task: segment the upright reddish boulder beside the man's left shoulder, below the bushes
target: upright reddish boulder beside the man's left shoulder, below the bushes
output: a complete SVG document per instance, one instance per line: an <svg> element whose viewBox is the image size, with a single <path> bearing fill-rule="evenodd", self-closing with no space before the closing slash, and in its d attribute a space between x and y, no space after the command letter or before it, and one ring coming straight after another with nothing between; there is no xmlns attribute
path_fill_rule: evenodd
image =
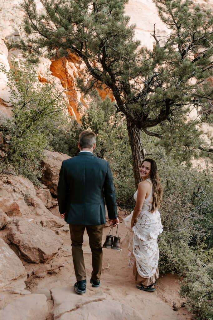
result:
<svg viewBox="0 0 213 320"><path fill-rule="evenodd" d="M49 188L49 191L54 196L57 196L57 186L59 179L59 172L62 161L69 159L70 156L60 152L51 152L45 150L45 158L42 165L42 183Z"/></svg>

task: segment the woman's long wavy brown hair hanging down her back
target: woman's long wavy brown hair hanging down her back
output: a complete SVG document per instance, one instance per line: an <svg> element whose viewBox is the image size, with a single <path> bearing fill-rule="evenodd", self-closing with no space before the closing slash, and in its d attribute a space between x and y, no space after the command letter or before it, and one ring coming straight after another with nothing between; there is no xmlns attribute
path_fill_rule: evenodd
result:
<svg viewBox="0 0 213 320"><path fill-rule="evenodd" d="M148 161L151 164L149 178L152 181L153 203L152 203L151 213L153 213L160 206L160 201L163 196L163 188L160 183L160 178L159 178L159 175L157 172L157 164L156 164L155 160L146 158L142 161L141 165L144 163L144 161Z"/></svg>

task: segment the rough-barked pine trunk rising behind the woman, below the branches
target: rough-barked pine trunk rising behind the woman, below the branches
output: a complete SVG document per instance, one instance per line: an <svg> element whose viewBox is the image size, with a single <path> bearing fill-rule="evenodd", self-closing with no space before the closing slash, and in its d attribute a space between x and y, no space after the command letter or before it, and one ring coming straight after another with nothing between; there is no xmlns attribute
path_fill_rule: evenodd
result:
<svg viewBox="0 0 213 320"><path fill-rule="evenodd" d="M126 119L127 122L127 132L129 136L129 143L132 150L133 156L133 174L135 179L135 186L138 188L139 182L141 182L139 174L139 165L141 160L144 158L143 148L142 148L142 138L141 130L131 122L129 119Z"/></svg>

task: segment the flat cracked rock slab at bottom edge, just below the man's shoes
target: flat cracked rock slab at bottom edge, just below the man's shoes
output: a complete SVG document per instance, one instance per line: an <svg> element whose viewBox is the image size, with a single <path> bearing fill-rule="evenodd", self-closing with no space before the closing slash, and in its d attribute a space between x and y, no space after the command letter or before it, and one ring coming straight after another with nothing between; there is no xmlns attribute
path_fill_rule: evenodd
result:
<svg viewBox="0 0 213 320"><path fill-rule="evenodd" d="M50 293L54 301L54 320L143 320L142 316L130 306L119 301L106 300L107 296L101 291L89 296L79 296L71 287L55 287Z"/></svg>

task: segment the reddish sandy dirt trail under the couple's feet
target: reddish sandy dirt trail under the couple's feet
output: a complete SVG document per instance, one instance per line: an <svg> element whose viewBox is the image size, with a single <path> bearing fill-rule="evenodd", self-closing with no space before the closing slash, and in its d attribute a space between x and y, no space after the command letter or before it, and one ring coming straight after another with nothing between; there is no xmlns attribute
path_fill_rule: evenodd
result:
<svg viewBox="0 0 213 320"><path fill-rule="evenodd" d="M54 209L57 214L57 208ZM119 225L119 235L124 238L126 235L126 227L122 223L124 212L120 212L121 223ZM62 228L55 228L57 234L64 240L63 247L53 261L63 263L65 266L60 268L57 274L47 274L44 278L36 278L29 276L27 279L27 287L32 293L44 293L47 296L49 311L54 310L54 302L51 300L50 289L64 290L74 294L73 284L75 283L75 274L72 264L72 252L70 246L70 234L68 225ZM105 236L109 232L109 227L104 227L103 242ZM103 271L101 276L101 287L92 288L89 283L91 276L91 252L87 232L84 234L84 260L87 270L87 291L80 297L93 297L104 295L104 300L114 300L123 303L137 310L144 320L185 320L191 319L191 314L186 308L179 308L178 311L172 309L172 303L180 307L181 302L178 296L179 283L178 279L173 275L160 276L157 280L155 292L144 292L136 288L136 283L132 275L132 269L128 268L128 249L122 248L118 252L111 249L103 249ZM39 266L36 264L27 264L25 268L29 274L34 268ZM57 289L58 288L58 289ZM65 293L66 294L66 293ZM60 293L61 295L61 293ZM62 294L63 295L63 294ZM74 297L74 296L73 296ZM81 299L78 295L78 298ZM63 299L63 298L62 298ZM51 315L49 319L52 319ZM69 317L68 319L72 319ZM87 317L85 317L87 319ZM90 319L88 317L88 319ZM101 319L101 317L100 317Z"/></svg>

